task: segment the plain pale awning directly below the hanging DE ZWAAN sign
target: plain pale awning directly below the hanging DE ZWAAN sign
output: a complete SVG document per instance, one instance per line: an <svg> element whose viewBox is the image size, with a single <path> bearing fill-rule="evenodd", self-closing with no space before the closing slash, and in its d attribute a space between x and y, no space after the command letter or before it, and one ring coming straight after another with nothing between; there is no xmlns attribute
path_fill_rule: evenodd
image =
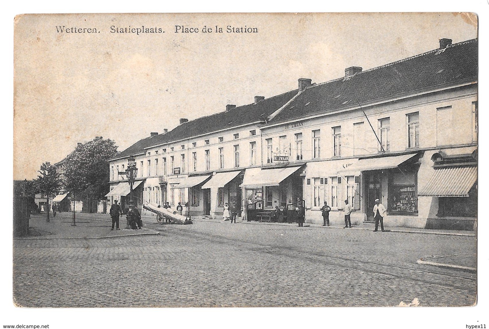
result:
<svg viewBox="0 0 489 329"><path fill-rule="evenodd" d="M249 168L244 172L243 184L240 187L261 188L262 186L278 186L280 182L296 172L298 167L276 169Z"/></svg>

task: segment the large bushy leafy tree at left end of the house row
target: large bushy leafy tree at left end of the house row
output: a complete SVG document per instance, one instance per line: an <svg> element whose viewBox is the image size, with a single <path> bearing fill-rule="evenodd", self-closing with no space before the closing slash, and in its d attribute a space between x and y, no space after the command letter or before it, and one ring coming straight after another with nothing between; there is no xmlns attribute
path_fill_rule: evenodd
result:
<svg viewBox="0 0 489 329"><path fill-rule="evenodd" d="M109 192L108 160L117 153L115 142L102 137L78 145L65 158L66 189L90 201L103 198Z"/></svg>

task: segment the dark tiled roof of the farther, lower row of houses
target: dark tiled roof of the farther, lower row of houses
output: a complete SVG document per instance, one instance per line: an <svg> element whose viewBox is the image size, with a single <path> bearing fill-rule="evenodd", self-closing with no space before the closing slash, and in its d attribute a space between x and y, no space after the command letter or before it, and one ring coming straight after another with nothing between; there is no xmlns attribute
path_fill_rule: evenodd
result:
<svg viewBox="0 0 489 329"><path fill-rule="evenodd" d="M229 111L219 112L206 117L182 123L175 129L166 134L148 137L138 141L128 147L113 159L119 159L130 155L144 152L146 147L160 145L170 142L176 142L194 136L199 136L214 131L236 127L246 123L258 122L267 119L267 117L289 102L292 97L297 95L298 90L291 90L286 93L267 98L258 103L238 106Z"/></svg>

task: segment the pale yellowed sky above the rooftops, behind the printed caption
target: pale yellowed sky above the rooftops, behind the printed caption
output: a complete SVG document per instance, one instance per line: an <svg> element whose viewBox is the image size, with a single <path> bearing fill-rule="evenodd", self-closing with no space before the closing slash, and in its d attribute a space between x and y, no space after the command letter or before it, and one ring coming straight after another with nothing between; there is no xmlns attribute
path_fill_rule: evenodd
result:
<svg viewBox="0 0 489 329"><path fill-rule="evenodd" d="M111 26L164 33L111 33ZM199 33L175 33L175 25ZM202 33L202 27L223 33ZM226 26L258 33L226 33ZM59 33L56 26L96 28ZM78 142L122 151L189 120L477 37L454 13L24 15L14 30L14 179L64 159Z"/></svg>

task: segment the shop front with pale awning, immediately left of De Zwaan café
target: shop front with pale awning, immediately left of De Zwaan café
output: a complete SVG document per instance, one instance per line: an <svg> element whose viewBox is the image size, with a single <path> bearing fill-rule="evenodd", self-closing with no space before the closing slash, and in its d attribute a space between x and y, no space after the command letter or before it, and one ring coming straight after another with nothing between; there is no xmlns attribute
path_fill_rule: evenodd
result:
<svg viewBox="0 0 489 329"><path fill-rule="evenodd" d="M236 204L240 215L241 213L241 188L243 174L241 170L228 172L215 172L212 178L202 185L204 191L205 209L204 215L210 215L212 218L219 218L224 212L224 206L227 203L231 206Z"/></svg>

